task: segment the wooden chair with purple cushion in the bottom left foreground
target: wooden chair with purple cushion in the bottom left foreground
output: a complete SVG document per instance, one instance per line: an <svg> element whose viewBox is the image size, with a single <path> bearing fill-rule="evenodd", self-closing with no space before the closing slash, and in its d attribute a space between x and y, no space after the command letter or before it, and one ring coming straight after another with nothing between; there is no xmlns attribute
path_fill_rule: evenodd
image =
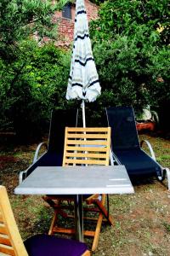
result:
<svg viewBox="0 0 170 256"><path fill-rule="evenodd" d="M90 253L84 243L56 236L32 236L24 244L14 220L7 190L0 186L0 255L89 256Z"/></svg>

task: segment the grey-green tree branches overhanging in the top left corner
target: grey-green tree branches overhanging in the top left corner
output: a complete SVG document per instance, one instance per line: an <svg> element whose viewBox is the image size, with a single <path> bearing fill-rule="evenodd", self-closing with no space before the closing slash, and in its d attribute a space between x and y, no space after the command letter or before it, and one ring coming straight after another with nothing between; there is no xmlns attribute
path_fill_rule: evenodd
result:
<svg viewBox="0 0 170 256"><path fill-rule="evenodd" d="M39 39L56 38L53 15L67 0L56 4L42 0L1 0L0 2L0 58L11 62L20 55L20 42L38 33Z"/></svg>

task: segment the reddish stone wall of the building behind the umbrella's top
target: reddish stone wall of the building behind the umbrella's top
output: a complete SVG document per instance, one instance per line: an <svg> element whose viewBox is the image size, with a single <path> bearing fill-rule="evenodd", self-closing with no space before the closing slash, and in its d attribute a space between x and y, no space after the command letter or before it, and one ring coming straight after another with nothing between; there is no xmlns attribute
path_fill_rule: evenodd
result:
<svg viewBox="0 0 170 256"><path fill-rule="evenodd" d="M86 6L86 11L89 20L95 20L98 17L98 6L94 3L91 3L89 0L84 1ZM59 21L59 41L56 42L58 46L68 47L73 41L74 35L74 20L75 20L75 9L76 5L72 4L71 6L71 16L72 19L65 19L62 17L62 12L57 12L54 15L54 22Z"/></svg>

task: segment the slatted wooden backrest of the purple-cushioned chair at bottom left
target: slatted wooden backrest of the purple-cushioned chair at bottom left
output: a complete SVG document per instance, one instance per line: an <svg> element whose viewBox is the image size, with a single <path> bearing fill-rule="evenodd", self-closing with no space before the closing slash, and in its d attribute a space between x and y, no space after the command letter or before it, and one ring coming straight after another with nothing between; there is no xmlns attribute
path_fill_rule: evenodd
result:
<svg viewBox="0 0 170 256"><path fill-rule="evenodd" d="M0 255L28 256L3 186L0 186Z"/></svg>

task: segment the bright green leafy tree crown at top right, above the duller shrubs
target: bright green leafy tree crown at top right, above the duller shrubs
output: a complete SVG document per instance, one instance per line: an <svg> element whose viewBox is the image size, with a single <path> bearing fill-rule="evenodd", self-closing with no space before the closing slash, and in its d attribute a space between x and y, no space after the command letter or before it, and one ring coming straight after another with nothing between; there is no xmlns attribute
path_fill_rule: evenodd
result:
<svg viewBox="0 0 170 256"><path fill-rule="evenodd" d="M94 21L93 35L97 39L114 39L116 34L133 38L140 26L146 26L145 36L159 33L160 43L169 44L168 0L115 0L100 5L99 20ZM158 29L158 31L157 31Z"/></svg>

